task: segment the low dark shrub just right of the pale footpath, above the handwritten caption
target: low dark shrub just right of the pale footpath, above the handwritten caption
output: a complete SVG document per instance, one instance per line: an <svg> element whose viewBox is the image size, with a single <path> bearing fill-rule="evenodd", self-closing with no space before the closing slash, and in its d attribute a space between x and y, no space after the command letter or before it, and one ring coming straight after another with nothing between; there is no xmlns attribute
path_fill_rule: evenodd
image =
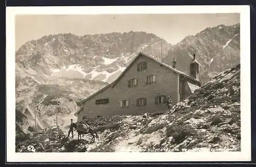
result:
<svg viewBox="0 0 256 167"><path fill-rule="evenodd" d="M178 144L185 140L188 135L195 135L196 131L190 125L179 126L178 124L173 124L167 127L166 136L173 136L174 143Z"/></svg>

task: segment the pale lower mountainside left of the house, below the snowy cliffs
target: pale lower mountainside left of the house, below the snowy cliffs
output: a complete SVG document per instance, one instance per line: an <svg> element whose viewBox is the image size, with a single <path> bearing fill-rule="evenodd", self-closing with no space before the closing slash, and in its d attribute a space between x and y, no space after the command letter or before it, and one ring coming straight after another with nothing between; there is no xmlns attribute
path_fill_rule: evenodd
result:
<svg viewBox="0 0 256 167"><path fill-rule="evenodd" d="M35 131L35 115L38 130L56 125L57 109L58 125L69 123L78 109L76 101L86 98L106 83L79 78L42 77L19 69L15 85L16 130L28 133ZM56 105L57 101L60 105Z"/></svg>

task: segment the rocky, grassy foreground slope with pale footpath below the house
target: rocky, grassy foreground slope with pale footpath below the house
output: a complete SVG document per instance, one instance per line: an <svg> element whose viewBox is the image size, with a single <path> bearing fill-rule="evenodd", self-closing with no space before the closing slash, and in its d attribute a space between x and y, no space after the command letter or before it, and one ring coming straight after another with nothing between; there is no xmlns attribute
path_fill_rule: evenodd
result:
<svg viewBox="0 0 256 167"><path fill-rule="evenodd" d="M88 119L99 138L65 138L68 127L16 137L16 152L240 151L240 64L216 75L173 110ZM90 137L90 138L89 138ZM33 149L31 149L33 146Z"/></svg>

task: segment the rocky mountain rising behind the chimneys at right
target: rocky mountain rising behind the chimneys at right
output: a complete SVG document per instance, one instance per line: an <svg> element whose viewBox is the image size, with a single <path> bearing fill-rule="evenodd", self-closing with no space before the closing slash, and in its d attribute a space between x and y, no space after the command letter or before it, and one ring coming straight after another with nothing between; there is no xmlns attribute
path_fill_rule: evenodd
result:
<svg viewBox="0 0 256 167"><path fill-rule="evenodd" d="M240 62L240 24L208 27L195 36L187 36L174 45L163 61L172 64L177 59L177 69L189 73L189 62L196 53L200 63L200 79L209 81L214 75Z"/></svg>

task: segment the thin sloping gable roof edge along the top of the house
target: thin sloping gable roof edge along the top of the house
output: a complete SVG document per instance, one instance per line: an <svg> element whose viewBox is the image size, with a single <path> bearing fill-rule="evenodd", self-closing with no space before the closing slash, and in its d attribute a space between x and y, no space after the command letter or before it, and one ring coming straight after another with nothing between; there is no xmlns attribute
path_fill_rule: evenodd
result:
<svg viewBox="0 0 256 167"><path fill-rule="evenodd" d="M111 84L109 84L109 85L103 87L102 89L100 89L99 91L95 92L94 94L92 94L91 96L87 97L86 99L77 102L77 104L78 104L78 105L81 105L82 103L84 103L84 102L86 102L87 100L91 99L92 97L94 97L95 95L97 95L97 94L99 94L100 92L104 91L105 89L107 89L107 88L109 88L109 87L112 87L112 88L113 88L113 87L115 86L115 84L121 79L121 77L126 73L126 71L129 70L130 67L131 67L131 66L136 62L136 60L138 60L139 57L141 57L141 56L145 56L145 57L147 57L147 58L150 58L151 60L153 60L153 61L155 61L155 62L161 64L162 66L164 66L164 67L166 67L166 68L168 68L168 69L170 69L170 70L172 70L172 71L174 71L174 72L176 72L176 73L178 73L178 74L180 74L180 75L182 75L182 76L185 76L185 77L187 77L187 78L189 78L189 79L191 79L191 80L197 81L197 82L199 82L199 83L201 84L201 81L197 80L196 78L193 78L193 77L191 77L191 76L185 74L184 72L181 72L181 71L179 71L179 70L177 70L177 69L175 69L175 68L173 68L173 67L171 67L171 66L169 66L169 65L167 65L167 64L165 64L165 63L163 63L163 62L160 62L160 61L158 61L158 60L152 58L151 56L149 56L149 55L147 55L147 54L145 54L145 53L139 52L139 53L136 55L136 57L134 58L134 60L125 68L125 70L124 70Z"/></svg>

